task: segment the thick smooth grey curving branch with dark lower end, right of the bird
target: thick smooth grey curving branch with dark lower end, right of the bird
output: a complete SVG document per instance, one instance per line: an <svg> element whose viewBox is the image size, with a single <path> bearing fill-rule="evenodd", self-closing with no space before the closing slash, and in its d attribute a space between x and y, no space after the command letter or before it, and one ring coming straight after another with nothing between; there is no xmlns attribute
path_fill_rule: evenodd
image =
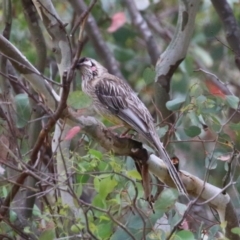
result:
<svg viewBox="0 0 240 240"><path fill-rule="evenodd" d="M195 17L200 0L179 0L178 22L175 34L167 49L161 54L156 64L156 91L155 99L158 109L166 119L171 115L166 108L166 102L170 99L170 82L172 75L179 64L185 58L187 49L194 30ZM174 118L171 118L174 122Z"/></svg>

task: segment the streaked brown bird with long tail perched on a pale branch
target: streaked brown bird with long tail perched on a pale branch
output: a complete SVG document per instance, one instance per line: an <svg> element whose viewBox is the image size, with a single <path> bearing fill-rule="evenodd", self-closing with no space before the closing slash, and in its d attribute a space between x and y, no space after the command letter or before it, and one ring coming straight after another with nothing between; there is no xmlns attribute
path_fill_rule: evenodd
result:
<svg viewBox="0 0 240 240"><path fill-rule="evenodd" d="M163 159L178 191L187 195L178 171L157 135L152 115L130 85L110 74L94 59L82 57L76 67L81 73L82 91L93 99L95 111L141 134Z"/></svg>

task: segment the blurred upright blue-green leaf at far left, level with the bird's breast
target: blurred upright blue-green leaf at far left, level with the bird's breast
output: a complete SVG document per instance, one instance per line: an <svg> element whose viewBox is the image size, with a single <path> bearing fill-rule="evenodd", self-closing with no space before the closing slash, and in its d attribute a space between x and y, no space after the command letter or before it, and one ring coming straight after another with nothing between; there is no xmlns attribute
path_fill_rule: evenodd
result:
<svg viewBox="0 0 240 240"><path fill-rule="evenodd" d="M17 127L24 127L31 116L28 95L21 93L15 96L15 105L17 110Z"/></svg>

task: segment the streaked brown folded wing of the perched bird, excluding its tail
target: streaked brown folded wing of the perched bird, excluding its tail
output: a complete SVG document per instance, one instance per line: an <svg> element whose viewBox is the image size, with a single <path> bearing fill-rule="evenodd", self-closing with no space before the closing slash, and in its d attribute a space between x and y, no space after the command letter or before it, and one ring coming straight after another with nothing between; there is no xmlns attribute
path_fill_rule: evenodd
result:
<svg viewBox="0 0 240 240"><path fill-rule="evenodd" d="M114 115L136 131L147 133L152 117L127 83L121 79L103 78L95 85L99 101Z"/></svg>

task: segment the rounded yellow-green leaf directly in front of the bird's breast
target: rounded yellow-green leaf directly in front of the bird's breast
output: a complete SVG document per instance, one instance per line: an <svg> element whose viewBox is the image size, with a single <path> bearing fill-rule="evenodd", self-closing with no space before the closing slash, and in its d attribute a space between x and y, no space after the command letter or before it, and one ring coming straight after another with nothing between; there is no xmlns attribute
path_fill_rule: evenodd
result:
<svg viewBox="0 0 240 240"><path fill-rule="evenodd" d="M67 104L75 109L86 108L91 105L91 98L82 91L71 92Z"/></svg>

